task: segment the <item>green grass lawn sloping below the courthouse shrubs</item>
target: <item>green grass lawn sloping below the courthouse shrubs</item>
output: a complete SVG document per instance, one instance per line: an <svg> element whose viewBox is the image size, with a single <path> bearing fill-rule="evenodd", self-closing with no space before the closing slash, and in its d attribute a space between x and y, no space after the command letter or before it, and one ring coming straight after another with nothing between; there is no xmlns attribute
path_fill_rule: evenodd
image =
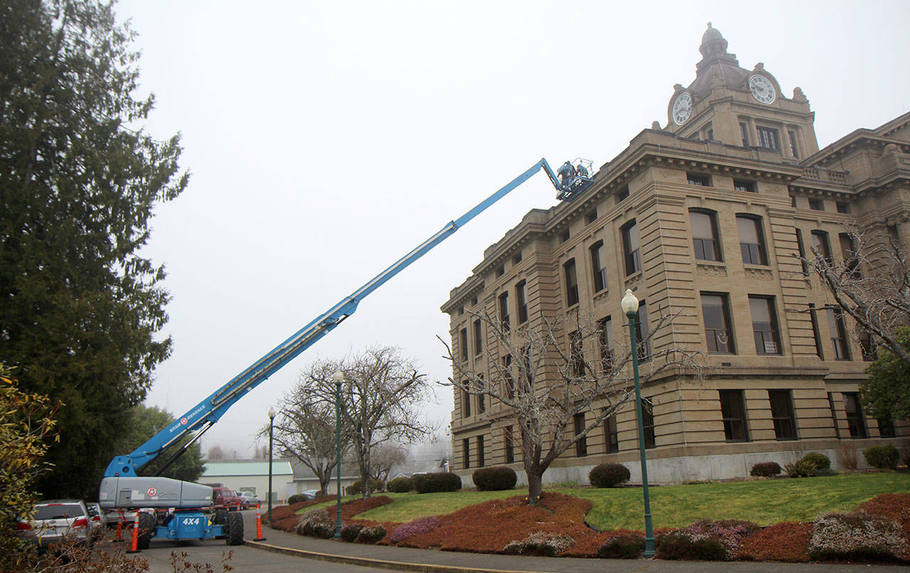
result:
<svg viewBox="0 0 910 573"><path fill-rule="evenodd" d="M593 504L588 523L599 529L643 529L642 489L544 488ZM747 519L760 525L808 521L826 511L853 509L882 493L910 492L910 474L847 474L831 477L762 479L693 486L651 488L655 528L679 527L703 518ZM405 522L444 515L488 499L527 495L510 491L456 491L438 494L382 494L394 503L370 509L358 518ZM345 498L354 499L354 498ZM325 504L333 505L332 502Z"/></svg>

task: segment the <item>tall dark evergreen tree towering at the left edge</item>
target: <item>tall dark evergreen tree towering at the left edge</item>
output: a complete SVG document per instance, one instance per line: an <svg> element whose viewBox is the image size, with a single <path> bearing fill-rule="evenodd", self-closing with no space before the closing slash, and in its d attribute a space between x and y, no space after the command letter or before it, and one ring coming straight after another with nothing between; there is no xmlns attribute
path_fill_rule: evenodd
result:
<svg viewBox="0 0 910 573"><path fill-rule="evenodd" d="M164 270L138 250L187 174L178 136L141 128L132 38L96 0L0 7L0 357L64 403L46 496L96 496L170 352Z"/></svg>

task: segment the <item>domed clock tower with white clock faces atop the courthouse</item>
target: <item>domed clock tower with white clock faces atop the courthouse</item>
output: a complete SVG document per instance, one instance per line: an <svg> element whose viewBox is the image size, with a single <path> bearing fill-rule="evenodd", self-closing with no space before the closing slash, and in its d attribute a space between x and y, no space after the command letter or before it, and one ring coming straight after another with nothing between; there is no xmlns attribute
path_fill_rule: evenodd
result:
<svg viewBox="0 0 910 573"><path fill-rule="evenodd" d="M794 87L785 97L781 85L762 63L752 70L727 52L727 41L708 23L699 46L702 61L695 79L673 86L667 105L667 125L678 136L764 152L799 162L818 151L814 113L803 90ZM770 153L771 156L766 156Z"/></svg>

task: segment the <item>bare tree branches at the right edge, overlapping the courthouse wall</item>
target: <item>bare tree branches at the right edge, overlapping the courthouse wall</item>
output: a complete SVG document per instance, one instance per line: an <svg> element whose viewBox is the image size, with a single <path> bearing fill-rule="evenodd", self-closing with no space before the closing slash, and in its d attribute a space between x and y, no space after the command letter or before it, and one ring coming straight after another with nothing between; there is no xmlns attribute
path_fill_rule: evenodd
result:
<svg viewBox="0 0 910 573"><path fill-rule="evenodd" d="M910 317L908 254L884 225L847 226L845 231L842 257L815 246L812 256L794 256L806 274L821 279L834 305L854 318L861 337L871 336L910 366L910 352L897 339L897 328L907 326Z"/></svg>

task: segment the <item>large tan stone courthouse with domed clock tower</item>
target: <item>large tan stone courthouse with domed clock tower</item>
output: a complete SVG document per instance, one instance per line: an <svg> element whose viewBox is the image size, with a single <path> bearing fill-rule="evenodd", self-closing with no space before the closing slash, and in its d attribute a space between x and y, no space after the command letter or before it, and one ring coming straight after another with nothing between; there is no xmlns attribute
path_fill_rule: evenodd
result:
<svg viewBox="0 0 910 573"><path fill-rule="evenodd" d="M581 309L612 340L628 340L620 300L632 288L645 328L661 311L686 315L652 339L654 351L701 348L713 367L699 382L668 376L642 388L653 481L743 477L754 463L783 465L808 451L836 465L844 445L897 444L910 426L875 420L858 400L867 341L825 308L824 288L793 254L815 246L843 256L850 223L885 226L910 246L910 114L819 149L799 87L788 97L763 64L741 67L710 25L699 50L695 79L675 85L665 126L635 136L571 201L531 210L451 291L442 310L453 355L477 372L505 360L472 315L484 311L514 328L541 312ZM502 464L521 475L505 414L489 397L455 391L462 476ZM569 448L544 478L586 483L604 462L640 475L633 407Z"/></svg>

